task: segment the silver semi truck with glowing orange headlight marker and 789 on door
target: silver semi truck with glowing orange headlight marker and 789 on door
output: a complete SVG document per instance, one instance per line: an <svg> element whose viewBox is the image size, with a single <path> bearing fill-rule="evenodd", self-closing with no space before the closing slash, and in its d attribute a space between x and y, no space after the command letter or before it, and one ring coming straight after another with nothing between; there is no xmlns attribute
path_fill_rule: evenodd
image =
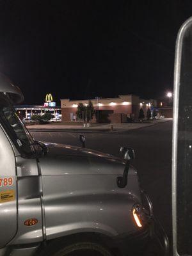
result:
<svg viewBox="0 0 192 256"><path fill-rule="evenodd" d="M0 74L0 256L144 255L152 241L166 255L134 150L35 141L13 108L22 100Z"/></svg>

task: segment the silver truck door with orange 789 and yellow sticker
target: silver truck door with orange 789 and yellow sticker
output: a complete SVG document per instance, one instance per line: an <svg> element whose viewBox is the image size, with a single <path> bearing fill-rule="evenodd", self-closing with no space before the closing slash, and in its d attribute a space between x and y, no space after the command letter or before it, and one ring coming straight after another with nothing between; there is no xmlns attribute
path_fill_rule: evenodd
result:
<svg viewBox="0 0 192 256"><path fill-rule="evenodd" d="M0 248L17 232L17 180L15 155L0 126Z"/></svg>

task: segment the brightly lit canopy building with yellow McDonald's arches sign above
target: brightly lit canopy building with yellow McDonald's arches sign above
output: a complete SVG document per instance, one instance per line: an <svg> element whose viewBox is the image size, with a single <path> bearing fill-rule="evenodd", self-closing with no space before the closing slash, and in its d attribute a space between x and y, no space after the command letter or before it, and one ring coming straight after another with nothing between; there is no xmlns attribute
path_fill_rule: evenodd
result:
<svg viewBox="0 0 192 256"><path fill-rule="evenodd" d="M56 102L53 101L51 93L47 93L45 97L44 105L20 105L15 106L15 110L21 118L31 118L33 115L44 115L46 112L50 112L57 118L61 118L61 108L56 106Z"/></svg>

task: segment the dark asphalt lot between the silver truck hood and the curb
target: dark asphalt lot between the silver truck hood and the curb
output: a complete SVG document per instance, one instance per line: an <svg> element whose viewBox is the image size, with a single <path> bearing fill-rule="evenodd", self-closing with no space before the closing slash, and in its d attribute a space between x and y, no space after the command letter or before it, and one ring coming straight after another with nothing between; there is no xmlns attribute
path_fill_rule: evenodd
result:
<svg viewBox="0 0 192 256"><path fill-rule="evenodd" d="M36 140L78 145L78 133L31 132ZM154 212L171 236L172 121L121 133L85 134L86 147L120 156L119 148L136 151L133 165L140 173L141 186L154 204Z"/></svg>

